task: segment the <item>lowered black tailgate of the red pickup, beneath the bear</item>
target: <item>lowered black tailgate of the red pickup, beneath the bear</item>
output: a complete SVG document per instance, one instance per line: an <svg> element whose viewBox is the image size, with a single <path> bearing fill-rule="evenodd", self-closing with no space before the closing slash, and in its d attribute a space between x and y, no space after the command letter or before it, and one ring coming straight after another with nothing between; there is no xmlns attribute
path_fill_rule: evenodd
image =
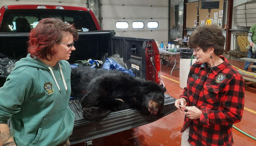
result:
<svg viewBox="0 0 256 146"><path fill-rule="evenodd" d="M106 118L97 121L86 121L82 115L82 107L78 100L70 100L69 107L75 113L73 134L70 136L71 144L100 138L131 128L154 122L177 110L175 99L165 94L163 116L142 116L135 109L113 112Z"/></svg>

